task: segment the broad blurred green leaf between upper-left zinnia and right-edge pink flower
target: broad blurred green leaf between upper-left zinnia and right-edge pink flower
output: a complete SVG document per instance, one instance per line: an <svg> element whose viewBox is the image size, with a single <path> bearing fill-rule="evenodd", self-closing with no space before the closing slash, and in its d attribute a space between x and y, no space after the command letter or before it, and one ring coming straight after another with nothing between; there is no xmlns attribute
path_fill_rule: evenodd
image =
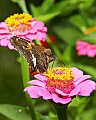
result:
<svg viewBox="0 0 96 120"><path fill-rule="evenodd" d="M76 40L81 35L81 32L71 25L66 26L66 24L62 23L55 25L53 30L64 42L75 45Z"/></svg>

